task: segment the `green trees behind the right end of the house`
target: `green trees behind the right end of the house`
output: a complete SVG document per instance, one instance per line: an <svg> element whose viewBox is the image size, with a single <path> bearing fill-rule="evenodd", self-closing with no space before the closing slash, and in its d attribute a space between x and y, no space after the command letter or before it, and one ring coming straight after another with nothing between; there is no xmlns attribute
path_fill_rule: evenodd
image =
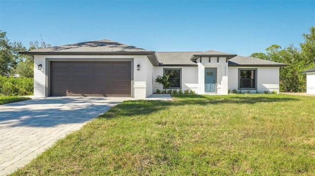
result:
<svg viewBox="0 0 315 176"><path fill-rule="evenodd" d="M306 74L308 69L315 68L315 27L310 33L302 34L304 42L299 47L292 44L282 49L271 45L266 52L252 53L251 57L287 64L280 68L280 92L306 92Z"/></svg>

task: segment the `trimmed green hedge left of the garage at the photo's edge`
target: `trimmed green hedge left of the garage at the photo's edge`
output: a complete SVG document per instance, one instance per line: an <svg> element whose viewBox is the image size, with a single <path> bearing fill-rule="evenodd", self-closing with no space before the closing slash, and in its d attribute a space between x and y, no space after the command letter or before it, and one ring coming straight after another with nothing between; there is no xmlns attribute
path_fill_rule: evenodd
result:
<svg viewBox="0 0 315 176"><path fill-rule="evenodd" d="M33 94L33 78L7 77L0 75L0 95L24 96Z"/></svg>

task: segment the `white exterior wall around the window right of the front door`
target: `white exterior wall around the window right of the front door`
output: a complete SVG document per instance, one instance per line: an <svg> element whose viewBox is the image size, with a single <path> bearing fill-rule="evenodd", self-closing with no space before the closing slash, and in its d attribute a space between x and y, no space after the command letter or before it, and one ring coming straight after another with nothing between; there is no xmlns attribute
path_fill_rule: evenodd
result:
<svg viewBox="0 0 315 176"><path fill-rule="evenodd" d="M257 69L257 90L260 93L264 91L277 91L279 93L279 67L229 67L228 68L228 89L238 90L239 69ZM243 89L242 89L243 90ZM255 90L252 90L254 93Z"/></svg>

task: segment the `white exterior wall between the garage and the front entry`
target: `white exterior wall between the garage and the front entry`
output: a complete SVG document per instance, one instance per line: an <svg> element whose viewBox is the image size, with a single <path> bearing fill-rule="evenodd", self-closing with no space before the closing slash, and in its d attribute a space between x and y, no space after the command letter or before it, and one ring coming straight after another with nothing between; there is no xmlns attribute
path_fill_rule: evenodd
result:
<svg viewBox="0 0 315 176"><path fill-rule="evenodd" d="M185 90L193 90L198 94L198 67L154 67L153 72L153 93L157 92L157 89L163 90L162 86L159 86L154 80L158 75L163 75L163 69L182 69L181 72L181 89L183 93Z"/></svg>

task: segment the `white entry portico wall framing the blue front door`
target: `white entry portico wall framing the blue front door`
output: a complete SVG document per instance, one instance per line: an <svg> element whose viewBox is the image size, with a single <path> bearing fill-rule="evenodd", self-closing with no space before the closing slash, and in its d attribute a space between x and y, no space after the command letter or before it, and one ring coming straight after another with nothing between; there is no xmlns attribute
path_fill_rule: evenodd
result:
<svg viewBox="0 0 315 176"><path fill-rule="evenodd" d="M228 93L228 63L225 57L202 57L201 62L198 63L198 94L205 94L205 68L217 69L217 85L216 93L221 95L227 95Z"/></svg>

